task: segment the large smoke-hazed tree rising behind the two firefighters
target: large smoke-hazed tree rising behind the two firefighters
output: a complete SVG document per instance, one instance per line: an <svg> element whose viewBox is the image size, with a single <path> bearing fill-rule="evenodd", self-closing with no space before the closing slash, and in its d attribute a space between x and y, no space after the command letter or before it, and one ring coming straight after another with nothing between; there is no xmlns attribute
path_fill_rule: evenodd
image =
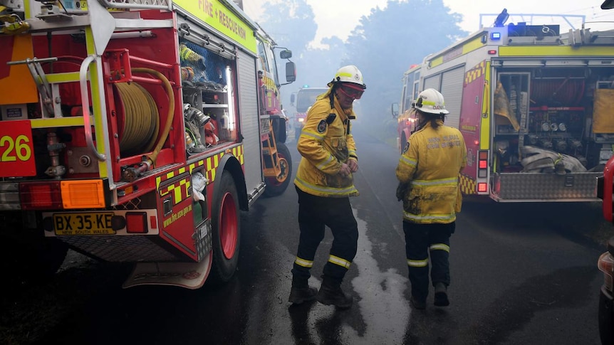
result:
<svg viewBox="0 0 614 345"><path fill-rule="evenodd" d="M420 63L465 36L460 14L449 13L442 0L389 0L385 9L372 9L360 18L345 48L345 64L357 65L367 91L361 100L363 112L387 116L401 92L401 78L410 65Z"/></svg>

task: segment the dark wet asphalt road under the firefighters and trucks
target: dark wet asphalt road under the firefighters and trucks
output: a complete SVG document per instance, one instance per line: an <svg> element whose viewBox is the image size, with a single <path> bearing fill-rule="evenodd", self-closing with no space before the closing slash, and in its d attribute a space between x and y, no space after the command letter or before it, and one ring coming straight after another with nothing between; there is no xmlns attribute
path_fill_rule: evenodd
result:
<svg viewBox="0 0 614 345"><path fill-rule="evenodd" d="M354 296L351 309L287 302L298 240L296 192L288 188L282 196L260 198L241 216L239 270L229 283L200 290L122 290L126 267L76 265L81 259L69 258L53 284L16 294L56 302L53 312L24 316L48 324L33 329L28 339L34 344L599 344L603 277L596 260L603 246L586 237L603 226L598 205L465 201L451 239L451 305L434 307L429 299L425 311L415 311L408 302L401 205L395 198L398 153L355 135L361 195L352 204L360 238L343 282ZM288 142L296 171L295 144ZM314 286L331 241L328 231L312 270ZM20 343L26 341L14 344Z"/></svg>

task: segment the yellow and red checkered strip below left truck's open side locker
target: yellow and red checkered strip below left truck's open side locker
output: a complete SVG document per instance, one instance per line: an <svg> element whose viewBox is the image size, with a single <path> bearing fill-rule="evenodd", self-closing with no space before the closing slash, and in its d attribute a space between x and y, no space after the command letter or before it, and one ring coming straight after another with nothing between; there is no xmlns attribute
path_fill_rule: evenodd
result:
<svg viewBox="0 0 614 345"><path fill-rule="evenodd" d="M189 172L189 174L192 174L192 171L194 171L194 169L199 168L200 166L204 166L204 171L202 171L202 174L204 175L204 177L206 177L207 179L209 179L209 183L212 183L213 181L215 181L215 171L217 170L217 166L219 166L219 161L222 159L222 156L224 156L224 154L232 154L233 156L236 157L236 159L239 161L239 164L241 164L241 166L244 163L244 157L243 157L243 145L238 145L236 147L232 147L230 149L227 149L224 152L219 152L218 154L214 154L212 156L208 156L205 159L202 159L200 161L194 162L192 164L189 164L189 166L182 166L181 168L175 170L175 171L171 171L167 174L161 175L161 176L157 176L156 178L156 189L159 189L160 192L160 196L165 196L167 193L170 193L171 190L175 190L180 188L181 186L184 186L187 184L186 188L187 188L187 193L185 194L180 194L179 196L177 196L177 193L179 193L178 191L175 191L175 200L177 201L177 198L179 197L179 201L182 201L184 198L186 198L187 196L189 196L189 179L190 177L187 176L185 179L183 179L182 181L178 181L174 184L170 184L169 186L165 186L162 189L160 189L160 185L162 183L164 183L165 181L168 181L172 178L174 178L175 176L180 176L182 174L185 174L186 172ZM186 182L187 181L187 182ZM175 202L178 203L179 201Z"/></svg>

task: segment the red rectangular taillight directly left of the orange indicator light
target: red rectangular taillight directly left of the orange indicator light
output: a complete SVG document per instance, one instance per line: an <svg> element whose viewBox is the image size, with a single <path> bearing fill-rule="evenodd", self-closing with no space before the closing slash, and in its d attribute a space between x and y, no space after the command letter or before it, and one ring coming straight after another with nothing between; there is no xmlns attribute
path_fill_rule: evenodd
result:
<svg viewBox="0 0 614 345"><path fill-rule="evenodd" d="M22 210L61 209L60 181L21 182L19 184Z"/></svg>

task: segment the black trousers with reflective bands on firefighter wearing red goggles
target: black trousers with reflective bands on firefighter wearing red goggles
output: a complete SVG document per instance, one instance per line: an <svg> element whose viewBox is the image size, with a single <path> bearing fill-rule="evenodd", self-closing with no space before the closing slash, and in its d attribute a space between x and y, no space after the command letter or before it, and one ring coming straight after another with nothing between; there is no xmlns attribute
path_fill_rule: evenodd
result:
<svg viewBox="0 0 614 345"><path fill-rule="evenodd" d="M349 264L358 247L358 223L354 218L350 198L323 198L296 189L298 193L298 239L296 260L292 267L293 285L307 285L311 266L318 245L324 238L325 226L331 228L333 245L328 262L324 265L324 277L338 282L348 272ZM297 262L301 262L299 265Z"/></svg>

